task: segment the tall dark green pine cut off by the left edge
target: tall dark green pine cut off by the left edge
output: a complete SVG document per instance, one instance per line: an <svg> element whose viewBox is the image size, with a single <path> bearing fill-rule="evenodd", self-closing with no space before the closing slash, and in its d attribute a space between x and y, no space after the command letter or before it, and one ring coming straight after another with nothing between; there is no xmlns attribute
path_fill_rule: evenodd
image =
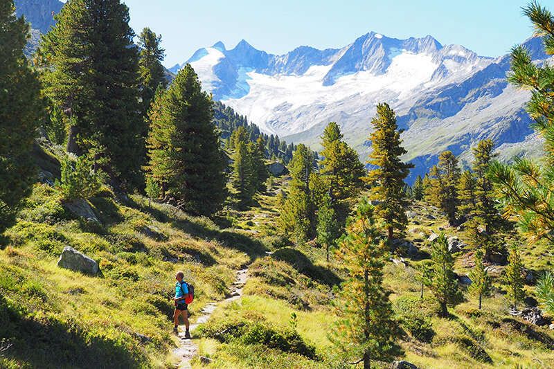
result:
<svg viewBox="0 0 554 369"><path fill-rule="evenodd" d="M40 84L23 54L29 26L15 17L12 1L0 2L0 235L35 179L31 150L46 115ZM0 244L2 240L0 240Z"/></svg>

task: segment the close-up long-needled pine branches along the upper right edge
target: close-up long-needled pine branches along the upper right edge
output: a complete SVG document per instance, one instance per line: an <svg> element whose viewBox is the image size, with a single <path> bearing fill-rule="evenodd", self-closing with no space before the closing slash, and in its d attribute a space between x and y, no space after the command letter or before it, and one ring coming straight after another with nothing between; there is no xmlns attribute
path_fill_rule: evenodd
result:
<svg viewBox="0 0 554 369"><path fill-rule="evenodd" d="M554 16L538 3L530 3L524 14L543 37L545 52L554 55ZM512 49L512 71L508 80L531 91L527 112L534 128L544 138L544 163L515 158L514 165L494 162L490 179L505 209L519 223L529 242L545 238L554 242L554 73L548 64L535 64L524 46Z"/></svg>

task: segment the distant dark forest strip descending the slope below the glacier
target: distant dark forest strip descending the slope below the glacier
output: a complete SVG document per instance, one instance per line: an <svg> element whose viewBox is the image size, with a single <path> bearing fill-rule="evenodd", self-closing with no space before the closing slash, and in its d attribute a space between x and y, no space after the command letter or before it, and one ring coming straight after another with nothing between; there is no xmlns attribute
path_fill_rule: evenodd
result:
<svg viewBox="0 0 554 369"><path fill-rule="evenodd" d="M286 141L280 140L277 135L268 135L260 132L260 128L253 123L249 123L246 116L237 114L231 107L224 105L222 102L214 102L213 108L213 120L221 131L226 148L233 150L231 136L238 128L243 127L250 141L256 142L258 138L262 138L264 142L264 155L267 159L281 161L285 165L291 161L292 152L296 150L294 143L287 144Z"/></svg>

